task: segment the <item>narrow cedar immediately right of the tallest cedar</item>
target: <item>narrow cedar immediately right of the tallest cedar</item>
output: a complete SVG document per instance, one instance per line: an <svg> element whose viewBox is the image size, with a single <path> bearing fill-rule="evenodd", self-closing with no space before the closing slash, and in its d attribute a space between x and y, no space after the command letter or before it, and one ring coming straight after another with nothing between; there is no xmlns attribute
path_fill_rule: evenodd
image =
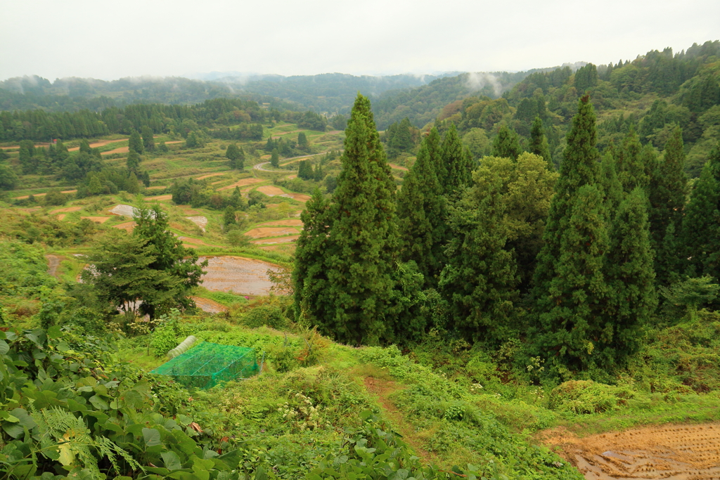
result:
<svg viewBox="0 0 720 480"><path fill-rule="evenodd" d="M405 175L397 194L397 230L400 258L415 261L425 277L425 288L437 286L445 263L445 199L428 151L430 137L423 139L418 159Z"/></svg>

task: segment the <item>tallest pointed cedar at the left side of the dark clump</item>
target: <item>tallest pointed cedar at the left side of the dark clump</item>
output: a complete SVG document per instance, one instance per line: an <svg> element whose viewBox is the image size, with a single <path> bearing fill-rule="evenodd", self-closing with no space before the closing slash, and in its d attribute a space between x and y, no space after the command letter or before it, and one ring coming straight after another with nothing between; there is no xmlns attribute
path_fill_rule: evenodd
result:
<svg viewBox="0 0 720 480"><path fill-rule="evenodd" d="M345 152L330 209L328 308L320 330L345 343L392 340L397 230L395 182L370 101L358 94L345 131Z"/></svg>

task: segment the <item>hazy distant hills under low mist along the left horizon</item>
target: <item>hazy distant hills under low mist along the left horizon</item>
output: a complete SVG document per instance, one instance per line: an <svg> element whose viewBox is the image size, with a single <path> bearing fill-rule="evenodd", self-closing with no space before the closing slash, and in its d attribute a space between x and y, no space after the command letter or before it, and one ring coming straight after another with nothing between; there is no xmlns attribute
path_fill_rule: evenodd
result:
<svg viewBox="0 0 720 480"><path fill-rule="evenodd" d="M311 76L228 76L215 81L189 78L59 78L39 76L9 78L0 82L0 110L44 109L72 112L99 111L134 103L197 104L220 97L241 97L272 107L311 109L327 114L347 113L358 91L375 97L385 91L404 91L444 76L353 76L325 73Z"/></svg>

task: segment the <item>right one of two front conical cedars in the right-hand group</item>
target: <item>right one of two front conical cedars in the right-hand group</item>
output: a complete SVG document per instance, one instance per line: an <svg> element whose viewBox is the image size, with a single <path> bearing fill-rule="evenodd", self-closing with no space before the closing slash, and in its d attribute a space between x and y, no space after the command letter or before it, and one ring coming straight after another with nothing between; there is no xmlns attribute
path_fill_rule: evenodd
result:
<svg viewBox="0 0 720 480"><path fill-rule="evenodd" d="M606 255L610 298L594 353L595 363L605 368L624 366L638 350L640 328L657 307L646 205L645 191L636 187L620 204L610 232Z"/></svg>

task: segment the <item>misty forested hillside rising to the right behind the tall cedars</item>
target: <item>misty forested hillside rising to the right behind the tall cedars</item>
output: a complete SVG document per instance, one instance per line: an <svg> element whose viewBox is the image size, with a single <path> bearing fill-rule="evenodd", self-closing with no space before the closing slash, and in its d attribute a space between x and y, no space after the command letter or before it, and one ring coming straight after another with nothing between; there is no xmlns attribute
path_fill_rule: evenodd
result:
<svg viewBox="0 0 720 480"><path fill-rule="evenodd" d="M686 170L694 177L720 138L720 41L679 53L652 50L616 64L589 63L575 72L566 67L530 73L500 98L490 95L487 86L477 94L465 92L467 86L457 78L446 78L392 101L383 99L375 103L379 127L402 117L418 126L437 118L455 124L464 144L480 158L490 154L503 126L526 148L539 117L549 152L559 163L577 99L587 92L598 113L600 150L619 148L634 136L647 148L662 150L678 125L688 154ZM434 104L439 100L446 102L441 108Z"/></svg>

